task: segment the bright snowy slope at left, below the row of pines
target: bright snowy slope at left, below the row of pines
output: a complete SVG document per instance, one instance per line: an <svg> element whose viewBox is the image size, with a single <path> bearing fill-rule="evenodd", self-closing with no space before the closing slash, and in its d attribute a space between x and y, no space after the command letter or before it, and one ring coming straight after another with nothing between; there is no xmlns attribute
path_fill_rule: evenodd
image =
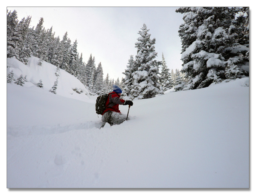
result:
<svg viewBox="0 0 256 195"><path fill-rule="evenodd" d="M21 74L23 77L26 76L27 82L24 85L25 87L36 86L36 84L39 83L39 80L42 80L44 85L43 89L49 92L49 89L52 88L57 79L57 76L55 75L57 67L44 61L42 62L42 65L39 66L38 60L37 57L30 57L28 64L25 65L15 58L7 58L7 74L13 70L15 79ZM76 79L76 77L62 69L59 69L58 75L58 87L56 91L58 95L82 101L94 101L94 98L89 95L86 87ZM79 94L73 89L83 92Z"/></svg>

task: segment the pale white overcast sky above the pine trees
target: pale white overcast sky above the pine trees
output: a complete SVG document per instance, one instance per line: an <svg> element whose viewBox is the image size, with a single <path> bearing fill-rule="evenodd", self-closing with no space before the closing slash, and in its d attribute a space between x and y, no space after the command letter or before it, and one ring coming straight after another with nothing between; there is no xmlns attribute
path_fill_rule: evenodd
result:
<svg viewBox="0 0 256 195"><path fill-rule="evenodd" d="M124 77L130 55L137 54L134 47L143 23L148 27L151 39L156 38L157 60L162 52L169 69L181 69L181 42L179 26L183 14L177 7L7 7L16 10L18 20L32 16L31 27L41 17L44 27L52 26L55 37L62 40L65 32L72 43L77 39L78 52L87 60L92 54L96 66L102 63L104 77L109 74L114 80Z"/></svg>

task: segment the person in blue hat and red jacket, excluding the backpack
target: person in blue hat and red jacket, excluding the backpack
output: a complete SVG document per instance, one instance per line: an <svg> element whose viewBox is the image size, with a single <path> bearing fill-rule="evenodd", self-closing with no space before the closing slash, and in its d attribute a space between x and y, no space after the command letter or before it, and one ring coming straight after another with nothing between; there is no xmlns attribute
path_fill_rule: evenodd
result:
<svg viewBox="0 0 256 195"><path fill-rule="evenodd" d="M108 94L108 100L106 102L106 109L102 114L102 122L107 122L111 126L114 124L121 124L127 118L119 110L119 105L133 105L131 100L123 100L120 98L122 90L113 85L113 92ZM128 118L129 119L129 118Z"/></svg>

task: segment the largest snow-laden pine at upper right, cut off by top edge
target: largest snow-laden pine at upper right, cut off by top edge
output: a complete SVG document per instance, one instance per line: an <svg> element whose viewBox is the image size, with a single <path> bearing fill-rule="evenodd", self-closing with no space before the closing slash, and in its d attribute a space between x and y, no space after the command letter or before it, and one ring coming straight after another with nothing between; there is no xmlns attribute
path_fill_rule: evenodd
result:
<svg viewBox="0 0 256 195"><path fill-rule="evenodd" d="M182 72L189 78L185 89L203 88L226 79L227 60L237 55L233 53L237 46L234 44L235 34L230 32L234 29L238 10L230 7L185 7L176 10L184 14L179 36L182 42Z"/></svg>

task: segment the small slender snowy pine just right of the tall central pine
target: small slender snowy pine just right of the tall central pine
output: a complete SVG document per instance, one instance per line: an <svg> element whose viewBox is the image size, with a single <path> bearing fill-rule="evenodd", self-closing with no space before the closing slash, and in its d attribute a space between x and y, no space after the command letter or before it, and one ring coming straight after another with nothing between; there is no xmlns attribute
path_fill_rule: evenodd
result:
<svg viewBox="0 0 256 195"><path fill-rule="evenodd" d="M162 71L160 73L160 80L163 91L166 91L173 87L173 80L169 71L170 69L167 68L166 60L162 53Z"/></svg>

